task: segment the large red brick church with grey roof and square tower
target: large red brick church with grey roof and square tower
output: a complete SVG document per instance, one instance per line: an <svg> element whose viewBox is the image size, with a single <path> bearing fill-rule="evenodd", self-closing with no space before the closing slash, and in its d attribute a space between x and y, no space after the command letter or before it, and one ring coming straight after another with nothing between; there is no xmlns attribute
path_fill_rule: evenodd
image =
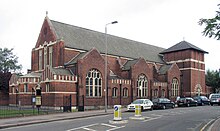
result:
<svg viewBox="0 0 220 131"><path fill-rule="evenodd" d="M45 107L99 109L106 99L112 107L138 98L207 95L206 53L187 41L164 49L46 16L31 70L11 77L9 103L31 105L38 86Z"/></svg>

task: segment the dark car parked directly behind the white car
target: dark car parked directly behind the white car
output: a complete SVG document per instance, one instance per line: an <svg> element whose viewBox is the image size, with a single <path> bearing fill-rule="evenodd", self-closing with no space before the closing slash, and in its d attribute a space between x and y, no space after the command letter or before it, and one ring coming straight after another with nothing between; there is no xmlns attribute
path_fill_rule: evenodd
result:
<svg viewBox="0 0 220 131"><path fill-rule="evenodd" d="M175 103L167 98L155 98L152 100L154 109L174 108Z"/></svg>

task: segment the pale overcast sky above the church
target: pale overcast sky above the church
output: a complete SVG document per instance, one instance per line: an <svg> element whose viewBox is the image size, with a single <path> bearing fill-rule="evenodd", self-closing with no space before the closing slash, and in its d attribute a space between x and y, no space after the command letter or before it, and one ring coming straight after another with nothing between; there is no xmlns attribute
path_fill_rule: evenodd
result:
<svg viewBox="0 0 220 131"><path fill-rule="evenodd" d="M202 36L200 18L212 18L219 0L1 0L0 47L14 48L23 73L48 11L51 20L169 48L182 40L209 52L206 70L220 68L220 42Z"/></svg>

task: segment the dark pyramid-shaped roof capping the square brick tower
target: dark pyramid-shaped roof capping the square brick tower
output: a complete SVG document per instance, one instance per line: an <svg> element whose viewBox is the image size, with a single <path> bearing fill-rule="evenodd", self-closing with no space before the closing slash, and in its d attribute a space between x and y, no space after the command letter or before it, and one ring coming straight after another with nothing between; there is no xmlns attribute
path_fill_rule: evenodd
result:
<svg viewBox="0 0 220 131"><path fill-rule="evenodd" d="M196 47L195 45L190 44L187 41L181 41L181 42L177 43L176 45L174 45L174 46L172 46L172 47L170 47L170 48L160 52L160 54L176 52L176 51L181 51L181 50L189 50L189 49L197 50L197 51L203 52L203 53L208 53L208 52L200 49L199 47Z"/></svg>

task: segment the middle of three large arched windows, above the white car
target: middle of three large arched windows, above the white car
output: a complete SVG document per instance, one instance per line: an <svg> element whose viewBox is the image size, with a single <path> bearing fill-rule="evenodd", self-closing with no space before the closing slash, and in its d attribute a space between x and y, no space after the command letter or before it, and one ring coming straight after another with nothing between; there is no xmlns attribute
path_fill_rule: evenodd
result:
<svg viewBox="0 0 220 131"><path fill-rule="evenodd" d="M137 97L148 96L148 81L144 74L138 76L137 79Z"/></svg>

